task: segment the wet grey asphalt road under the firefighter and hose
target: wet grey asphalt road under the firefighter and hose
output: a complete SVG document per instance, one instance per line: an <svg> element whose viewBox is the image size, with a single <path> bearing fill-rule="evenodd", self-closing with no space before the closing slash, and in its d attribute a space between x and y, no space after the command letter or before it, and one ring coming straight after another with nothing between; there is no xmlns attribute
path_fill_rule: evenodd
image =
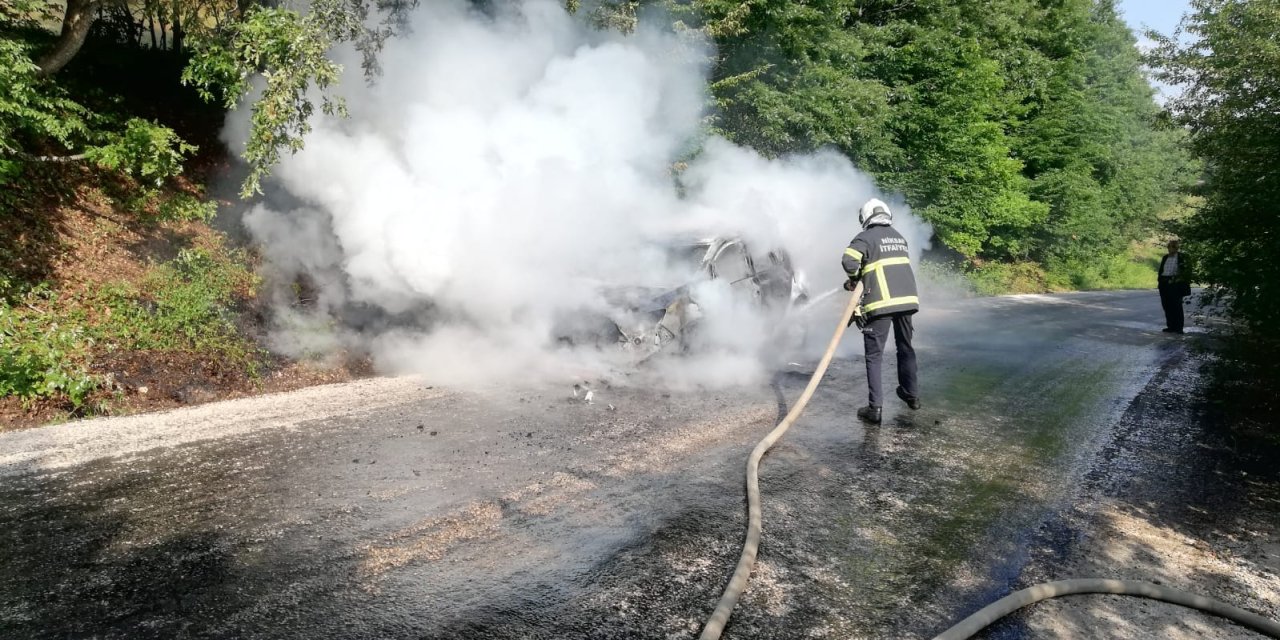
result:
<svg viewBox="0 0 1280 640"><path fill-rule="evenodd" d="M726 637L928 636L1001 595L1196 339L1161 326L1155 292L927 306L924 407L879 428L838 358L764 460ZM365 380L3 434L0 637L692 637L805 374L594 404Z"/></svg>

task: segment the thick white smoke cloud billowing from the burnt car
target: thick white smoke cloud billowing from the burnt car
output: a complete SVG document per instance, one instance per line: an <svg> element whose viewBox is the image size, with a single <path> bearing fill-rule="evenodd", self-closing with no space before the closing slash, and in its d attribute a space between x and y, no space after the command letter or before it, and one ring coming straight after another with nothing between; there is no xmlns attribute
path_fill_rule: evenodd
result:
<svg viewBox="0 0 1280 640"><path fill-rule="evenodd" d="M856 210L879 196L847 159L710 138L677 196L672 164L705 115L704 45L595 31L552 0L504 6L425 3L372 84L339 52L351 118L317 119L276 169L270 188L296 205L244 216L275 278L315 288L306 310L282 305L278 348L358 344L385 371L453 385L598 374L611 349L557 346L559 323L607 311L602 285L681 284L660 246L691 234L781 246L814 293L840 284ZM243 140L246 120L227 134ZM895 220L919 252L931 230L902 206ZM753 380L768 319L724 283L696 297L716 348L668 378Z"/></svg>

